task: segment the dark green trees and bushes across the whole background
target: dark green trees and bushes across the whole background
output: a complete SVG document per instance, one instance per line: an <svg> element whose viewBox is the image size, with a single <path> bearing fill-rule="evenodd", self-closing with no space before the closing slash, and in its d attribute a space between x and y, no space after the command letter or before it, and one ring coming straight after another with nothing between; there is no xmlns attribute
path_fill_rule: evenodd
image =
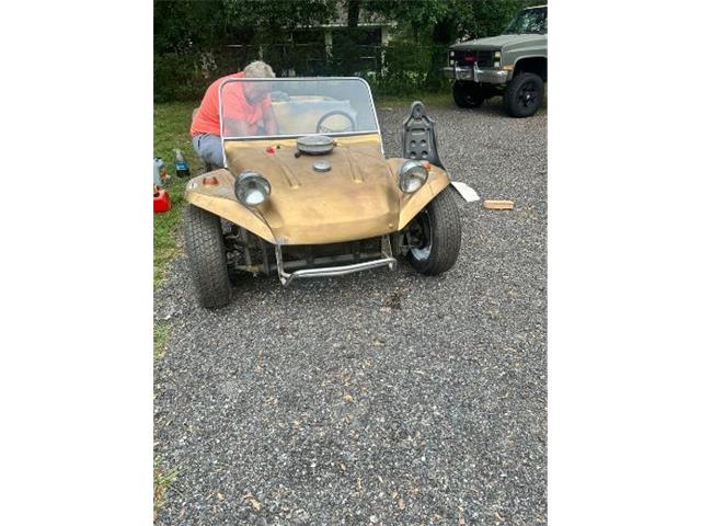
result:
<svg viewBox="0 0 701 526"><path fill-rule="evenodd" d="M350 3L359 5L360 15L397 23L389 46L367 45L363 27L334 30L330 55L320 33L306 30L290 38L295 28L329 22ZM441 68L456 39L498 34L519 9L538 3L544 2L157 0L154 101L198 100L215 79L255 59L267 61L277 75L361 75L378 93L444 90Z"/></svg>

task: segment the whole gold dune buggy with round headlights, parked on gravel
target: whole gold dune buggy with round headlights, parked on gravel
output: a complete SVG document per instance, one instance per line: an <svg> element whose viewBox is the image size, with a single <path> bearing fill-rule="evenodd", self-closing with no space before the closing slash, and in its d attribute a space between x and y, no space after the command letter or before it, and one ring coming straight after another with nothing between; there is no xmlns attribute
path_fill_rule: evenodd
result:
<svg viewBox="0 0 701 526"><path fill-rule="evenodd" d="M237 104L254 90L269 92L274 135L262 121L248 135L231 124L246 118ZM479 197L440 168L423 104L404 122L405 158L384 157L369 87L356 78L227 80L220 122L226 167L193 178L185 194L186 248L206 307L230 301L238 271L276 271L288 285L393 270L400 255L424 274L455 263L455 197Z"/></svg>

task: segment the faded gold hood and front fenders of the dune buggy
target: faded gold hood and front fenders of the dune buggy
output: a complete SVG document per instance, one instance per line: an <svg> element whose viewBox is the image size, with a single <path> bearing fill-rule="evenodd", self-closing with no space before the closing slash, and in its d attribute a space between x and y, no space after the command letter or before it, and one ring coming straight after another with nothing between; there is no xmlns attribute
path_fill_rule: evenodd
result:
<svg viewBox="0 0 701 526"><path fill-rule="evenodd" d="M416 193L399 188L403 159L384 159L378 134L336 138L329 155L295 157L296 139L227 141L231 173L255 170L271 183L271 197L257 209L241 205L228 170L210 172L219 185L204 186L202 175L187 185L185 199L276 244L324 244L397 232L450 180L437 167ZM272 146L274 152L266 148ZM278 148L279 147L279 148ZM317 172L319 160L330 172Z"/></svg>

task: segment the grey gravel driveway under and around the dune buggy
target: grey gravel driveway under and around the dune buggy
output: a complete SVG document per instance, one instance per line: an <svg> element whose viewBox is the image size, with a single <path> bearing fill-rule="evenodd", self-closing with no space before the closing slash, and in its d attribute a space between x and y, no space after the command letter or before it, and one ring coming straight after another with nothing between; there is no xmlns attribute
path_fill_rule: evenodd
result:
<svg viewBox="0 0 701 526"><path fill-rule="evenodd" d="M250 278L195 301L186 262L156 293L156 453L177 469L158 523L533 525L547 519L547 110L428 106L462 205L458 263ZM388 155L406 107L379 105Z"/></svg>

